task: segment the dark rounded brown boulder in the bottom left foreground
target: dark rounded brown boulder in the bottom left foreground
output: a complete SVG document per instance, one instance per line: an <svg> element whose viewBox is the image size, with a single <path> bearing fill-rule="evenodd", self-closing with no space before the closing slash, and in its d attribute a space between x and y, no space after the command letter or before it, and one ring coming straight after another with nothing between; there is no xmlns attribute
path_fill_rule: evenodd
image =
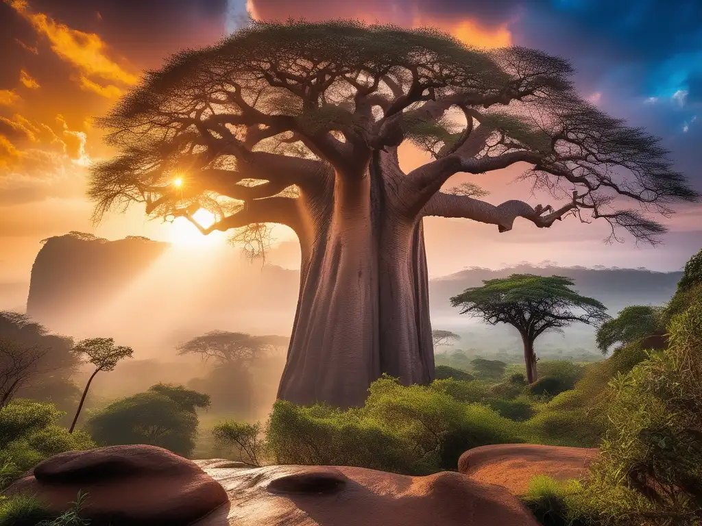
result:
<svg viewBox="0 0 702 526"><path fill-rule="evenodd" d="M227 494L194 462L160 447L121 445L55 455L8 493L37 494L58 513L88 493L81 517L95 525L180 526L227 503Z"/></svg>

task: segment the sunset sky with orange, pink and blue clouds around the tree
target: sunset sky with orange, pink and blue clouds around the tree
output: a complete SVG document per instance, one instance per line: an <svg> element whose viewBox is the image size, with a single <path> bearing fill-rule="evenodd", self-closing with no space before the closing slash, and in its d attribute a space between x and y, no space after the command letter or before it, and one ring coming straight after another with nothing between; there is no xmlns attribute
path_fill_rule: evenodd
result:
<svg viewBox="0 0 702 526"><path fill-rule="evenodd" d="M180 48L213 43L248 8L257 19L359 18L405 27L432 25L476 46L517 44L568 58L583 97L663 138L677 168L702 190L702 2L699 0L4 0L0 2L0 283L29 280L39 241L67 231L107 238L187 236L182 225L150 222L141 208L90 222L89 164L110 156L94 116ZM404 163L421 162L404 151ZM486 200L522 198L514 168L472 180ZM461 177L451 185L462 182ZM467 220L427 222L433 276L463 267L551 260L677 270L702 248L702 205L666 221L655 249L604 245L607 224L572 218L551 229L527 221L498 234ZM190 228L190 225L187 225ZM194 227L192 227L194 228ZM277 229L271 261L298 265L296 243Z"/></svg>

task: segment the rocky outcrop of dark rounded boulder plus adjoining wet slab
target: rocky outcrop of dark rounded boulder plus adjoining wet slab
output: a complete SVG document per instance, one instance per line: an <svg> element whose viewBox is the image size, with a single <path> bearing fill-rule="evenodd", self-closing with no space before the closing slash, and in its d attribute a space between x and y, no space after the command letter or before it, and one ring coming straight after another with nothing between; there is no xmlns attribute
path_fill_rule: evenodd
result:
<svg viewBox="0 0 702 526"><path fill-rule="evenodd" d="M145 445L102 447L51 457L8 492L63 511L82 490L81 516L94 526L537 526L507 490L460 473L240 466Z"/></svg>

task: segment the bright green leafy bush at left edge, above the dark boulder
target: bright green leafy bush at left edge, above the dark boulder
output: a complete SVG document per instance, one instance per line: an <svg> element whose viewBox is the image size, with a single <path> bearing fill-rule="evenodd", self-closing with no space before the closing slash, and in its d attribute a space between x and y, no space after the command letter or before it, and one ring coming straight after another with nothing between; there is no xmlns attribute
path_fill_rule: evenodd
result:
<svg viewBox="0 0 702 526"><path fill-rule="evenodd" d="M58 426L60 417L62 412L53 405L32 400L15 400L0 410L0 466L5 466L5 483L55 454L95 447L86 433L68 433Z"/></svg>

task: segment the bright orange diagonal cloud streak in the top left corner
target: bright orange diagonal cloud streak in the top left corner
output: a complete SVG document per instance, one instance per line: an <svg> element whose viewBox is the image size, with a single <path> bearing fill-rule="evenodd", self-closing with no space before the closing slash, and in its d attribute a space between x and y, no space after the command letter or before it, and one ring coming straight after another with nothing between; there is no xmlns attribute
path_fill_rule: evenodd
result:
<svg viewBox="0 0 702 526"><path fill-rule="evenodd" d="M92 76L128 86L137 83L137 76L127 72L108 56L107 44L98 34L72 29L43 13L32 13L25 0L4 1L22 15L38 34L48 39L56 55L77 67L83 76Z"/></svg>

